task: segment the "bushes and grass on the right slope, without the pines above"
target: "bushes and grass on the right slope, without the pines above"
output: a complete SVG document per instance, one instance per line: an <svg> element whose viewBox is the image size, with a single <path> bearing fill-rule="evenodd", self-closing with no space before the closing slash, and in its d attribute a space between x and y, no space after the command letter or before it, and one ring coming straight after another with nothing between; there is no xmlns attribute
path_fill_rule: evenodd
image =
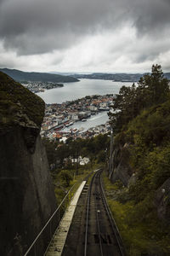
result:
<svg viewBox="0 0 170 256"><path fill-rule="evenodd" d="M127 253L170 255L170 228L157 218L154 203L156 189L170 177L170 101L133 119L116 137L116 144L122 142L130 144L129 164L136 183L125 189L121 183L111 184L107 177L104 180Z"/></svg>

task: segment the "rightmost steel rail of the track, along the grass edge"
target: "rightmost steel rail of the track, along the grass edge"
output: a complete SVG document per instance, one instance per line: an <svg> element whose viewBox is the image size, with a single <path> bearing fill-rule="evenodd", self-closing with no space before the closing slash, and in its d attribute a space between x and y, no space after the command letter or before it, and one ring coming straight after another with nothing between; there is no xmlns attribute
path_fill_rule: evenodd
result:
<svg viewBox="0 0 170 256"><path fill-rule="evenodd" d="M122 256L126 256L126 254L124 252L124 248L122 246L122 239L121 239L119 230L118 230L118 228L116 226L115 219L113 218L111 210L108 207L107 201L105 199L105 192L104 192L104 189L103 189L103 186L102 186L102 183L101 183L101 172L99 172L99 189L101 191L101 195L102 195L101 197L102 197L102 200L104 202L105 210L107 212L108 218L109 218L110 223L111 223L111 228L112 228L112 230L114 232L114 235L116 237L116 242L118 244L118 248L120 250L120 253L122 254Z"/></svg>

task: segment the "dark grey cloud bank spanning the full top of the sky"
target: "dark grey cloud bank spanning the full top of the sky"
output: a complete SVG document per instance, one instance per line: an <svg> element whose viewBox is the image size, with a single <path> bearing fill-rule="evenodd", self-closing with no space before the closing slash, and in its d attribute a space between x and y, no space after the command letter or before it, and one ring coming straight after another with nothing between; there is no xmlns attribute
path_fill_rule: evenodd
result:
<svg viewBox="0 0 170 256"><path fill-rule="evenodd" d="M138 36L159 37L166 34L169 13L168 0L0 0L0 37L19 55L42 54L127 22Z"/></svg>

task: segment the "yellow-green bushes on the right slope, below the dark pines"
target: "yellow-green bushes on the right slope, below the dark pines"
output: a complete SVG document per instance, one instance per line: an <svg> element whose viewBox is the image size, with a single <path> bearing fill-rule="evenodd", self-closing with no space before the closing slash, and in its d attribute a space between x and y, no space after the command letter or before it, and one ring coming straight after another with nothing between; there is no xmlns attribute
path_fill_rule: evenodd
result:
<svg viewBox="0 0 170 256"><path fill-rule="evenodd" d="M170 101L149 108L129 123L124 140L131 143L130 164L138 182L130 188L136 201L170 177ZM139 193L135 189L139 189Z"/></svg>

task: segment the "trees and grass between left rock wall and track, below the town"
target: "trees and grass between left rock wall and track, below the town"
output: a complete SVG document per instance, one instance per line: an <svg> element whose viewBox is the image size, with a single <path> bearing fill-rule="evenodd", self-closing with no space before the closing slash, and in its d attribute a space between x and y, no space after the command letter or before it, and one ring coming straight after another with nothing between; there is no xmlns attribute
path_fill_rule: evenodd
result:
<svg viewBox="0 0 170 256"><path fill-rule="evenodd" d="M105 162L105 148L109 147L110 137L99 135L86 140L68 138L66 143L51 142L43 138L42 143L47 151L54 190L60 203L73 184L78 185L78 182L82 182L82 178L87 177ZM90 162L81 166L78 160L80 156L88 157Z"/></svg>

